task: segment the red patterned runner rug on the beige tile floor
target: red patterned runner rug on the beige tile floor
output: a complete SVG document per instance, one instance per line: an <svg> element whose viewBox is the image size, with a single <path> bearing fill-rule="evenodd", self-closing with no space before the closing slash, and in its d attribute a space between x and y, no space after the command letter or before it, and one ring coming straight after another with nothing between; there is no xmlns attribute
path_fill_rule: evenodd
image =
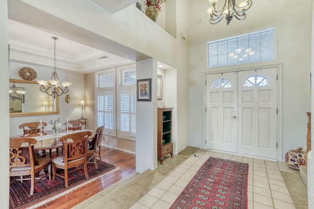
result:
<svg viewBox="0 0 314 209"><path fill-rule="evenodd" d="M209 159L170 209L247 209L249 164Z"/></svg>

